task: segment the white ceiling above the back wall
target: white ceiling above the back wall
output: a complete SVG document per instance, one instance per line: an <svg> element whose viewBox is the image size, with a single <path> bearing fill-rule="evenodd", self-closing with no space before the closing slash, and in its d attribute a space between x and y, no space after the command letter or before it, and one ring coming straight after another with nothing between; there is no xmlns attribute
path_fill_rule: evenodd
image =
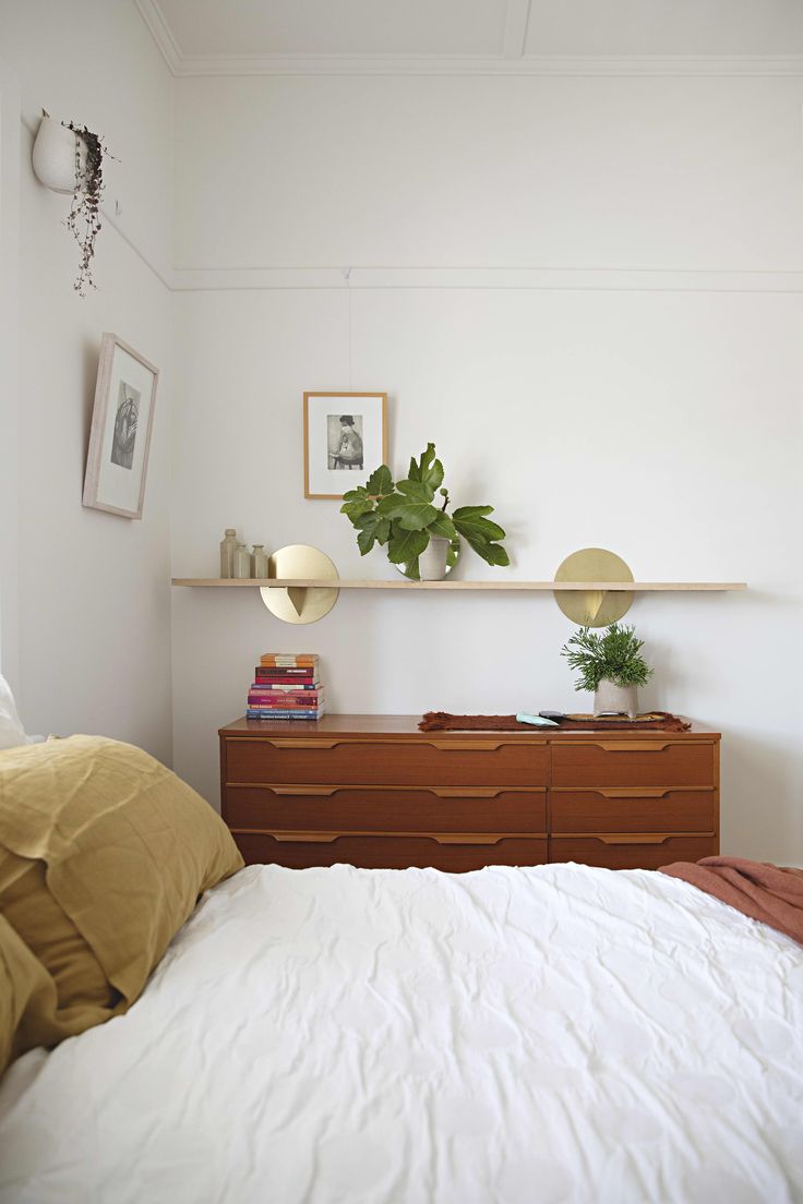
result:
<svg viewBox="0 0 803 1204"><path fill-rule="evenodd" d="M173 69L320 55L798 55L803 0L136 0Z"/></svg>

